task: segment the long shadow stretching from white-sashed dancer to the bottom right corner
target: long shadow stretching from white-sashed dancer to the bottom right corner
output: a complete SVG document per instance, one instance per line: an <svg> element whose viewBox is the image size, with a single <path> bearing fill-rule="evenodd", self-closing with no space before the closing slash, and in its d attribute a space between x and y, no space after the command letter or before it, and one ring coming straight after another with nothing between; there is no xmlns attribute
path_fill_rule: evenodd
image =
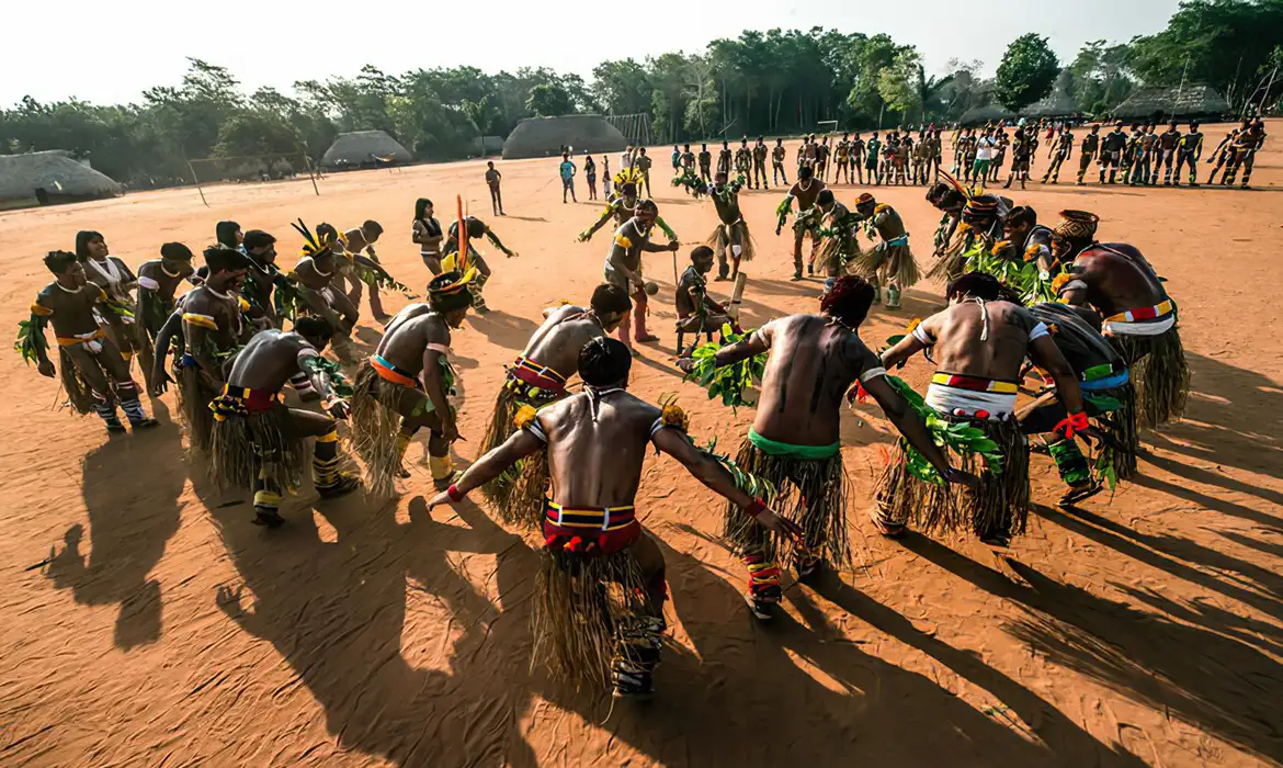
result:
<svg viewBox="0 0 1283 768"><path fill-rule="evenodd" d="M921 536L906 537L903 545L978 588L1024 606L1025 616L1005 629L1052 663L1253 754L1283 758L1280 718L1265 694L1278 690L1283 665L1256 647L1061 584L1011 557L1006 564L1028 586Z"/></svg>

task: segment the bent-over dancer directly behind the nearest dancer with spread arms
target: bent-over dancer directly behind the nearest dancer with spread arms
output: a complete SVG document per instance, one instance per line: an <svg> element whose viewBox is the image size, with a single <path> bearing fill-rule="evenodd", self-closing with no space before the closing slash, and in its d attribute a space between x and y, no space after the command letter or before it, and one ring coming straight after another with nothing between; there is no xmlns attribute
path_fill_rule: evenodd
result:
<svg viewBox="0 0 1283 768"><path fill-rule="evenodd" d="M481 452L502 446L518 429L517 420L566 397L566 381L575 375L580 349L593 339L609 336L631 310L629 292L609 283L597 286L589 308L567 304L553 310L508 366ZM543 515L547 485L547 457L535 455L522 460L514 471L486 483L482 492L504 523L535 527Z"/></svg>

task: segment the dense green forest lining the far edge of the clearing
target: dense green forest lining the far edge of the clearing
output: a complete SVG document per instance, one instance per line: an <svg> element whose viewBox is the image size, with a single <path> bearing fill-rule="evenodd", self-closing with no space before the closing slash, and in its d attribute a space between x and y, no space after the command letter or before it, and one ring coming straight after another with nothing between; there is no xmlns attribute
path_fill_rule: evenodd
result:
<svg viewBox="0 0 1283 768"><path fill-rule="evenodd" d="M1093 41L1060 62L1037 35L1007 49L996 76L951 60L928 76L913 46L887 35L745 31L699 54L608 60L591 81L547 68L486 73L473 67L295 82L290 92L244 92L235 73L191 60L178 86L136 104L24 98L0 110L0 153L65 149L131 185L176 182L187 158L307 153L318 158L343 131L378 128L418 159L467 157L480 135L506 136L531 116L650 116L665 140L777 135L817 121L870 128L956 121L997 101L1035 101L1053 85L1084 113L1106 110L1138 86L1207 83L1238 112L1277 110L1283 92L1283 0L1185 0L1165 30Z"/></svg>

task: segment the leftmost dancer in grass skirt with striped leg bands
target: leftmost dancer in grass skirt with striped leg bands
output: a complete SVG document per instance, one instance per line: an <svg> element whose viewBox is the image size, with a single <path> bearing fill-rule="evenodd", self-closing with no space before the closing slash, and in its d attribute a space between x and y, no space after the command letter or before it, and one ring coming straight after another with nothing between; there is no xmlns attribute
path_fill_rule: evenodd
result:
<svg viewBox="0 0 1283 768"><path fill-rule="evenodd" d="M87 281L85 267L74 253L50 250L45 267L55 280L36 294L31 317L19 325L17 349L41 376L59 374L49 360L45 326L54 326L62 385L72 407L81 415L90 411L106 424L106 432L122 433L124 425L115 414L119 405L133 429L155 426L142 410L139 385L130 378L130 365L99 325L98 315L106 311L106 293Z"/></svg>

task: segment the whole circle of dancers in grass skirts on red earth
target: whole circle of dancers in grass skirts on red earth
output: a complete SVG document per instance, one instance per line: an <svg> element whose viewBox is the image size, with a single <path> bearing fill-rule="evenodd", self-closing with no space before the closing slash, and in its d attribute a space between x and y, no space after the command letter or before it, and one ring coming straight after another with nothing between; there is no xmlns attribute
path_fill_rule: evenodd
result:
<svg viewBox="0 0 1283 768"><path fill-rule="evenodd" d="M794 276L807 235L807 271L826 276L816 312L745 333L734 306L708 297L715 258L715 280L742 288L754 250L736 199L745 181L729 168L706 185L718 223L676 285L679 331L709 336L689 349L679 342L686 378L735 407L749 405L743 390L758 381L756 417L734 457L701 448L671 398L629 392L633 343L654 340L645 310L656 286L642 253L680 249L631 170L580 234L586 241L613 222L602 283L586 302L544 311L507 366L481 455L462 473L450 455L459 439L452 334L485 310L491 272L475 244L488 238L516 256L462 204L443 232L432 203L416 203L412 239L434 276L423 301L390 317L378 290L408 289L375 253L375 221L346 231L299 221L302 254L289 271L276 265L273 235L235 222L219 222L199 270L189 248L168 243L135 274L103 235L80 232L74 252L45 257L54 281L36 297L18 348L46 376L60 369L71 405L113 433L124 429L118 406L136 429L155 424L131 379L135 358L154 397L176 381L192 461L218 484L251 491L253 521L267 527L285 523L281 505L308 474L322 498L361 487L394 496L411 478L407 449L426 430L430 507L480 491L498 518L540 534L536 656L559 677L645 696L667 597L661 550L635 507L649 447L725 498L724 534L745 566L747 604L770 620L785 569L804 582L852 559L843 408L871 397L901 435L874 489L880 533L915 527L1007 546L1024 530L1032 451L1051 456L1067 484L1062 503L1076 503L1132 476L1139 428L1184 406L1175 304L1139 250L1098 243L1094 214L1065 211L1052 229L1032 208L948 175L928 194L943 213L933 271L947 279L947 307L875 351L860 326L880 286L894 307L917 280L908 235L870 193L853 208L839 203L816 168L801 166L776 230L797 203ZM656 227L663 239L652 241ZM869 250L857 243L861 227L875 240ZM363 286L382 336L358 358L350 334ZM337 361L325 356L331 345ZM925 396L889 374L919 352L935 371ZM1017 407L1028 381L1037 397Z"/></svg>

